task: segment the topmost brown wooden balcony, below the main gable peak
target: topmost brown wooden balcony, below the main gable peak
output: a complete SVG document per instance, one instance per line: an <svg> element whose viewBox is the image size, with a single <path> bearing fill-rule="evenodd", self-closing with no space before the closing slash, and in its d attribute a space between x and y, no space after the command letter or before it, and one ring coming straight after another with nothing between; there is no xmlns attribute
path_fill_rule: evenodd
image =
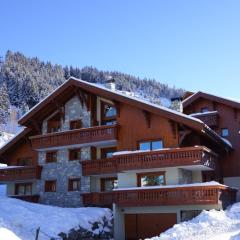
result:
<svg viewBox="0 0 240 240"><path fill-rule="evenodd" d="M33 149L78 145L116 139L116 125L96 126L30 137Z"/></svg>

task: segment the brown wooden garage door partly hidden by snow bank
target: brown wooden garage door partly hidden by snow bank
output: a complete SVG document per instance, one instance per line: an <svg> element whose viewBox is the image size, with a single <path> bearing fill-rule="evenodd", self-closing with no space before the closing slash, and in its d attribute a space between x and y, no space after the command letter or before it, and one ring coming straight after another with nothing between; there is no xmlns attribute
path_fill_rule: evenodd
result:
<svg viewBox="0 0 240 240"><path fill-rule="evenodd" d="M125 214L125 239L158 236L177 223L175 213Z"/></svg>

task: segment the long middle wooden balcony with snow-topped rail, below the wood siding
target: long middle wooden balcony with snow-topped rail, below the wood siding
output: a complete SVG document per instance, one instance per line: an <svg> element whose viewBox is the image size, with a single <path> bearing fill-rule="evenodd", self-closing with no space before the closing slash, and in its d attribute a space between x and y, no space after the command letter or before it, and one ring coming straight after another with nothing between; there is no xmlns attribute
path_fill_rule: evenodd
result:
<svg viewBox="0 0 240 240"><path fill-rule="evenodd" d="M216 160L217 155L214 152L199 146L136 152L107 159L83 161L82 169L85 176L180 166L202 166L215 169Z"/></svg>

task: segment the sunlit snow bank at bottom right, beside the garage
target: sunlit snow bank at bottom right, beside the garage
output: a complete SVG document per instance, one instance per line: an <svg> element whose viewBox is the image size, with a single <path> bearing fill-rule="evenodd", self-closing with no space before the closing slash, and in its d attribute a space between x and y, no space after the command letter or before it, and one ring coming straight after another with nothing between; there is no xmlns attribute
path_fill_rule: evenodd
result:
<svg viewBox="0 0 240 240"><path fill-rule="evenodd" d="M151 240L240 240L240 203L226 211L202 211Z"/></svg>

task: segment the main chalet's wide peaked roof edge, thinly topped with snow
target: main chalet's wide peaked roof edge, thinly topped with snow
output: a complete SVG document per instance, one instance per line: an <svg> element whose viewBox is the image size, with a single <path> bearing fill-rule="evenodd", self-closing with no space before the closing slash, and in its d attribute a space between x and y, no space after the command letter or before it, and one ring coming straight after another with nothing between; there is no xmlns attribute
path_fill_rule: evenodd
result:
<svg viewBox="0 0 240 240"><path fill-rule="evenodd" d="M37 105L35 105L29 112L27 112L19 120L19 123L23 125L26 124L26 122L29 121L34 114L38 113L38 111L40 111L41 109L44 109L44 106L46 106L47 104L48 105L51 104L51 101L55 96L60 95L64 90L71 86L76 86L82 88L85 91L109 97L110 99L113 98L120 102L123 101L127 102L128 104L132 104L135 106L137 105L143 110L149 112L153 112L160 115L165 114L167 118L169 118L170 120L185 124L203 134L207 133L207 135L209 135L210 133L211 136L214 136L215 141L221 143L222 145L226 145L226 143L221 139L221 137L217 133L215 133L211 128L209 128L205 123L203 123L200 119L186 115L176 110L169 109L164 106L160 106L158 104L151 103L150 101L140 99L135 96L126 95L118 90L110 90L102 84L89 83L74 77L70 77L65 83L63 83L61 86L55 89L51 94L49 94Z"/></svg>

